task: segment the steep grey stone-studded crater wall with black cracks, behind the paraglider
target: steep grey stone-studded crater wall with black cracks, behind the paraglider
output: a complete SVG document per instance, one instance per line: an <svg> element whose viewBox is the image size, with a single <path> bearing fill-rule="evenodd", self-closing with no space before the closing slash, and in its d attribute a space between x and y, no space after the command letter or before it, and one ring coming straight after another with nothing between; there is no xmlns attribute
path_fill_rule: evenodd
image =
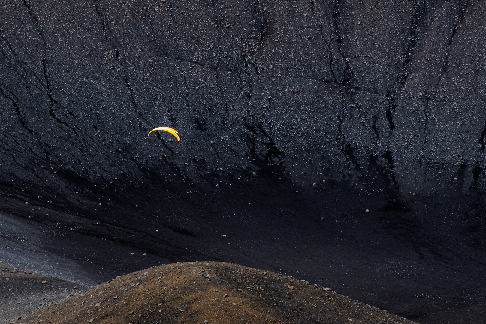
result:
<svg viewBox="0 0 486 324"><path fill-rule="evenodd" d="M481 1L3 1L2 187L254 171L394 197L476 195L484 11ZM147 138L162 125L181 141Z"/></svg>

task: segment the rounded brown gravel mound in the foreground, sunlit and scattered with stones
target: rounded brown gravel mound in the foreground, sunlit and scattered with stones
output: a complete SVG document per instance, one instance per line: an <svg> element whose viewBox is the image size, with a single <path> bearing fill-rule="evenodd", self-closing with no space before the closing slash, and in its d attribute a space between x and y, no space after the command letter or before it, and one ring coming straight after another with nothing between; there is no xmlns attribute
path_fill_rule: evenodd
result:
<svg viewBox="0 0 486 324"><path fill-rule="evenodd" d="M57 322L414 323L289 276L221 262L126 274L17 323Z"/></svg>

